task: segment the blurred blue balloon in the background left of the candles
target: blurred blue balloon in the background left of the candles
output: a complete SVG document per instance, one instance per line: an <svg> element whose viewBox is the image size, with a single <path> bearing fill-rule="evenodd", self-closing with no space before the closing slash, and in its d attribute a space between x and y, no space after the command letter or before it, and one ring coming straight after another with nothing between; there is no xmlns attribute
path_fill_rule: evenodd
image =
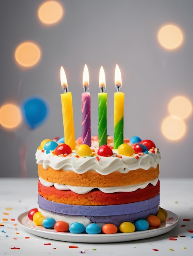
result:
<svg viewBox="0 0 193 256"><path fill-rule="evenodd" d="M38 96L30 96L21 103L22 115L25 124L35 129L46 121L49 108L44 99Z"/></svg>

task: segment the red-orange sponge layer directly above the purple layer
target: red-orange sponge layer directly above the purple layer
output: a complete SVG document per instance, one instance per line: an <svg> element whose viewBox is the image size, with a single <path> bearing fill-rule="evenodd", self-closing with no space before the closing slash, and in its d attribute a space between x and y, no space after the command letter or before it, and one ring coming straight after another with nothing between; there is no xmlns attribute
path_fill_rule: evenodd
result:
<svg viewBox="0 0 193 256"><path fill-rule="evenodd" d="M132 202L140 202L159 195L160 181L156 186L149 184L144 189L137 189L133 192L116 192L104 193L98 189L94 189L86 194L80 195L71 190L58 190L54 186L47 187L38 182L38 193L43 198L73 205L114 205L114 204L128 204Z"/></svg>

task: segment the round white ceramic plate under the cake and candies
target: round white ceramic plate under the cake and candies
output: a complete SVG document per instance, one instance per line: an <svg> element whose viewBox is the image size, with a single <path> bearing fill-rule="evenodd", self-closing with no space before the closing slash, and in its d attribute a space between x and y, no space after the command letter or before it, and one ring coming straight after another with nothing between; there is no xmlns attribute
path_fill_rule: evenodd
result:
<svg viewBox="0 0 193 256"><path fill-rule="evenodd" d="M153 228L145 231L135 231L133 233L116 233L116 234L71 234L69 232L56 232L54 229L45 229L44 227L35 226L33 221L28 218L28 212L22 213L18 217L19 225L27 232L49 238L53 240L75 242L75 243L116 243L132 240L139 240L162 235L173 229L179 217L171 211L167 211L168 218L166 222L162 222L158 228Z"/></svg>

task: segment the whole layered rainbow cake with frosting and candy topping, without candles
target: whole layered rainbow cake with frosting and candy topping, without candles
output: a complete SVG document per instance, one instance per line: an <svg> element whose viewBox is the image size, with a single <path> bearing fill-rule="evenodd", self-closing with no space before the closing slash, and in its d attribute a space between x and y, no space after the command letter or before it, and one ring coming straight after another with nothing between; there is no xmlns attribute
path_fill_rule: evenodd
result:
<svg viewBox="0 0 193 256"><path fill-rule="evenodd" d="M113 137L99 147L76 140L76 149L62 138L45 139L35 154L38 204L43 216L56 221L119 227L156 215L160 204L160 152L151 140L124 139L117 150Z"/></svg>

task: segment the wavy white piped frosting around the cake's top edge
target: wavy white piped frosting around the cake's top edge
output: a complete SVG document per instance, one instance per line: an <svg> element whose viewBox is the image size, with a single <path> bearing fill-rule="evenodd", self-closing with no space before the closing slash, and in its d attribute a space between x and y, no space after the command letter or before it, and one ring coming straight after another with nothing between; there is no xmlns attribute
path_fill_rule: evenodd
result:
<svg viewBox="0 0 193 256"><path fill-rule="evenodd" d="M55 170L62 169L63 171L74 171L78 174L92 170L102 175L108 175L114 171L128 173L131 170L139 168L144 170L148 170L150 167L156 168L160 162L160 152L158 148L155 148L154 151L155 153L148 151L148 154L144 153L143 155L134 154L133 156L121 155L121 157L117 157L117 150L113 150L113 156L111 157L103 157L99 155L91 157L75 157L76 150L73 150L72 154L63 157L63 155L57 156L52 154L52 151L47 154L38 149L35 153L35 158L37 164L42 164L44 169L47 169L50 166ZM96 148L95 152L97 152Z"/></svg>

